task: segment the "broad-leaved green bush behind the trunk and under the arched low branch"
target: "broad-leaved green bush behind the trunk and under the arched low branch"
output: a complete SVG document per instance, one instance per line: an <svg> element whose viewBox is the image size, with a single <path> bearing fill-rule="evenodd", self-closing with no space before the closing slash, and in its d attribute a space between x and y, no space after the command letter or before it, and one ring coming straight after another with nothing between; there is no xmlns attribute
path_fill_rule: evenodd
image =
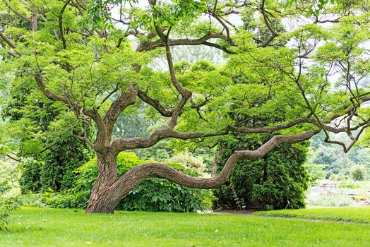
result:
<svg viewBox="0 0 370 247"><path fill-rule="evenodd" d="M118 176L145 162L148 161L138 158L134 152L121 152L117 157ZM168 165L185 174L199 176L198 171L177 162ZM91 159L73 172L77 175L74 188L65 193L45 192L41 203L49 207L85 208L98 174L97 159ZM210 191L186 188L165 179L147 179L126 195L117 210L193 212L209 207L210 196Z"/></svg>

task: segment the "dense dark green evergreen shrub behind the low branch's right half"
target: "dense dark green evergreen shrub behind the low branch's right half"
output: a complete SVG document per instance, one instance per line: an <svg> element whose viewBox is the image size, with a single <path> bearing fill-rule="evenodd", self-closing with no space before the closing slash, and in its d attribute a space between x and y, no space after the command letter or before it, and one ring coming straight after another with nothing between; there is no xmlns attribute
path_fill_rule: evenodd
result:
<svg viewBox="0 0 370 247"><path fill-rule="evenodd" d="M304 207L309 175L305 145L280 145L263 159L241 161L229 182L215 190L216 208Z"/></svg>

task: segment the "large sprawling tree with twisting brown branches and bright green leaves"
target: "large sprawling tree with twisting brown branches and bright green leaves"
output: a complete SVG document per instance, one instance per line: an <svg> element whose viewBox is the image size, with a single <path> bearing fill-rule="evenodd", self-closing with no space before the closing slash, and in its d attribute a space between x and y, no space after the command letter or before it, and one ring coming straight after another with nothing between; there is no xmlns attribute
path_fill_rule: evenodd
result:
<svg viewBox="0 0 370 247"><path fill-rule="evenodd" d="M118 18L110 15L112 6L117 6ZM144 179L215 188L227 181L242 159L261 159L277 145L308 140L321 130L326 142L350 150L370 120L369 110L362 107L370 100L369 85L364 83L368 54L362 46L369 37L366 6L367 1L351 6L353 11L330 30L316 22L277 32L273 24L277 20L306 13L294 6L282 11L285 7L279 1L264 0L150 0L145 8L135 1L66 0L45 5L37 0L3 0L1 69L9 80L35 83L49 100L66 107L55 128L68 130L76 122L85 127L70 134L97 155L99 175L86 211L113 212ZM229 16L240 11L256 13L256 21L269 33L263 37L268 38L256 43L259 36L239 30ZM129 37L138 42L136 50ZM227 63L218 67L201 63L201 70L195 66L178 71L171 47L181 45L220 49ZM161 54L168 68L154 71L150 61ZM341 73L335 87L329 80L333 70ZM248 83L234 80L236 72L244 73ZM141 104L150 106L146 114L161 119L162 126L148 136L112 138L119 116L142 109ZM270 121L240 126L231 117L238 112ZM86 134L89 126L96 128L93 139ZM330 132L347 133L350 142L333 141ZM148 148L167 138L217 144L233 138L232 133L273 136L256 150L236 150L211 178L187 176L153 162L117 178L117 155L124 150Z"/></svg>

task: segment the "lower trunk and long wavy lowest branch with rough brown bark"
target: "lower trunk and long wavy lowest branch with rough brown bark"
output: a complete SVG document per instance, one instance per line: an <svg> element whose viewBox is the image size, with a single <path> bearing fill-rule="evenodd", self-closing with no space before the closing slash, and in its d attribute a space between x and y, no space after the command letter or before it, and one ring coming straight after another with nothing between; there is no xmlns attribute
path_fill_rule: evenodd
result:
<svg viewBox="0 0 370 247"><path fill-rule="evenodd" d="M113 155L110 159L107 159L107 157L100 155L98 157L100 169L101 167L109 167L109 169L100 170L100 175L95 183L86 212L113 213L120 200L141 183L141 181L149 178L167 179L168 181L191 188L216 188L229 179L232 169L239 160L260 159L276 145L282 143L298 143L303 140L308 140L316 133L318 133L318 131L306 131L297 135L275 135L257 150L235 151L229 159L227 159L220 174L210 178L189 176L166 164L150 162L133 167L127 171L124 176L114 181L117 176L117 168L114 170L113 166L108 162L112 162L112 158L114 157L115 159L116 156ZM117 164L114 164L114 167L117 167ZM108 171L108 173L106 171ZM112 174L109 174L109 172L112 172Z"/></svg>

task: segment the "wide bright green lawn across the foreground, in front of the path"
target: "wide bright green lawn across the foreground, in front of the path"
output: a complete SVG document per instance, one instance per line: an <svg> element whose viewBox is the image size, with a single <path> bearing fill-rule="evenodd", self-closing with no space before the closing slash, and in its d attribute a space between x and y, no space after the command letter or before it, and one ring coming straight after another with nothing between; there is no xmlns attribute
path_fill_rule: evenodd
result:
<svg viewBox="0 0 370 247"><path fill-rule="evenodd" d="M239 215L23 208L0 246L370 246L370 225Z"/></svg>

